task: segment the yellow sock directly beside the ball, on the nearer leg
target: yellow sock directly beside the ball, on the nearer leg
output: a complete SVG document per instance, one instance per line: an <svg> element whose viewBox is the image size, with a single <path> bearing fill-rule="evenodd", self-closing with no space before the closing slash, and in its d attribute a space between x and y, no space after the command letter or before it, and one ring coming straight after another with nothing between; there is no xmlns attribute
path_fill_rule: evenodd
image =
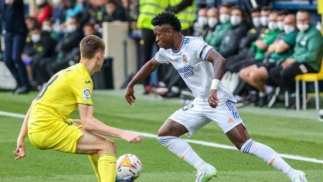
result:
<svg viewBox="0 0 323 182"><path fill-rule="evenodd" d="M117 175L116 155L106 152L98 160L98 171L102 182L115 182Z"/></svg>

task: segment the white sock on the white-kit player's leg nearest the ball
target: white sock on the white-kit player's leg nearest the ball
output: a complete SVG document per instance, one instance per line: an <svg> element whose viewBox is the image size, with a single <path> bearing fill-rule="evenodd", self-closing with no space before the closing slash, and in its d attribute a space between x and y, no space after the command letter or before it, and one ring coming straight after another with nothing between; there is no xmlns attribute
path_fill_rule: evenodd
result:
<svg viewBox="0 0 323 182"><path fill-rule="evenodd" d="M202 160L184 140L176 136L158 136L159 143L175 155L191 164L197 171L207 169L210 165Z"/></svg>

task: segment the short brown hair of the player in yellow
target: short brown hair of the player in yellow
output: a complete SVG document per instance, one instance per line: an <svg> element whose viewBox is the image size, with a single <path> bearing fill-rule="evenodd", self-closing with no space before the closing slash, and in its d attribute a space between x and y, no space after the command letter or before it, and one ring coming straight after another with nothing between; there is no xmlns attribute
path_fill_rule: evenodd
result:
<svg viewBox="0 0 323 182"><path fill-rule="evenodd" d="M80 42L80 51L82 58L93 58L99 51L104 52L105 44L103 40L95 35L88 35Z"/></svg>

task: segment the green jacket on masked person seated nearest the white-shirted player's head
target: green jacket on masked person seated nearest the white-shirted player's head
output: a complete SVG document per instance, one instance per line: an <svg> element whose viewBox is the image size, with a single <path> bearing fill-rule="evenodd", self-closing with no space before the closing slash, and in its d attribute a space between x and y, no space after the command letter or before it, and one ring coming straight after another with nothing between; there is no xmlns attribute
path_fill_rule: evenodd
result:
<svg viewBox="0 0 323 182"><path fill-rule="evenodd" d="M225 34L231 29L232 25L230 22L227 23L221 23L216 26L216 29L214 29L212 36L209 37L209 41L206 41L211 47L213 47L215 50L218 49L223 37Z"/></svg>

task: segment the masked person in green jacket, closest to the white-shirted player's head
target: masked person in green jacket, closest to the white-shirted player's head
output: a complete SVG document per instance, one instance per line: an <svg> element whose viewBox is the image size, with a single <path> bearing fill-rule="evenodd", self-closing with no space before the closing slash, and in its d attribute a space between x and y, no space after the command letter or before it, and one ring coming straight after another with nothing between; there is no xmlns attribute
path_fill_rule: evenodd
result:
<svg viewBox="0 0 323 182"><path fill-rule="evenodd" d="M214 29L212 34L213 36L209 40L209 42L206 42L215 50L218 50L223 37L232 27L230 23L230 8L231 5L227 3L224 3L220 6L220 24L216 26L216 29Z"/></svg>

